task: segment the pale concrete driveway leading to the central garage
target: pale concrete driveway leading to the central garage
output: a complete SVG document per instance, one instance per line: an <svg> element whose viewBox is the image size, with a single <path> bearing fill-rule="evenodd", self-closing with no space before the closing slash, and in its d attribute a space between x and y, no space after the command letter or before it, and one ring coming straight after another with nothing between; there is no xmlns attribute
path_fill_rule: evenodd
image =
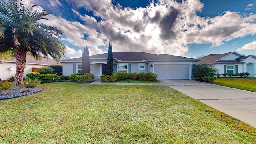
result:
<svg viewBox="0 0 256 144"><path fill-rule="evenodd" d="M256 128L256 92L195 80L159 82Z"/></svg>

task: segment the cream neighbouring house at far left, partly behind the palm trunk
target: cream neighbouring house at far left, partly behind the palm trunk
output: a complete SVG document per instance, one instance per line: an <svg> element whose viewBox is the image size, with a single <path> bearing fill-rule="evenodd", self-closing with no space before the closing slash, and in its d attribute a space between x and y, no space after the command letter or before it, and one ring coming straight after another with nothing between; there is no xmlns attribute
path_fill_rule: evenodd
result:
<svg viewBox="0 0 256 144"><path fill-rule="evenodd" d="M27 55L26 67L24 69L24 77L28 72L32 72L32 68L41 68L44 66L61 64L53 59L42 57L41 60L36 60L36 58L31 55ZM0 59L0 79L6 80L10 76L14 76L16 73L16 61L15 58L8 58L7 60Z"/></svg>

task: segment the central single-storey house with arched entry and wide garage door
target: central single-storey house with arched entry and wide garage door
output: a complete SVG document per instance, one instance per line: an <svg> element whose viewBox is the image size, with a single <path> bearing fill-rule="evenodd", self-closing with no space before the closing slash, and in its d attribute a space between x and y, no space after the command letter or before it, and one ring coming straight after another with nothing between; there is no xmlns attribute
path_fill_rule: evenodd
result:
<svg viewBox="0 0 256 144"><path fill-rule="evenodd" d="M114 72L153 72L158 80L192 79L192 65L196 59L168 54L150 54L145 52L112 52ZM90 73L100 78L106 71L108 53L90 56ZM60 61L63 75L70 75L82 70L82 58Z"/></svg>

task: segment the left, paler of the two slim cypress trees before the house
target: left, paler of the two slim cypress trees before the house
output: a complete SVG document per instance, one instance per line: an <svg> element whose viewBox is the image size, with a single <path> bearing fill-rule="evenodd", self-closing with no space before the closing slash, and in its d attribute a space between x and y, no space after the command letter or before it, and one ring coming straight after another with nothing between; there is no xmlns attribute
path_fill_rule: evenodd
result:
<svg viewBox="0 0 256 144"><path fill-rule="evenodd" d="M90 72L90 59L89 59L89 50L86 45L82 55L82 71L81 74L89 73Z"/></svg>

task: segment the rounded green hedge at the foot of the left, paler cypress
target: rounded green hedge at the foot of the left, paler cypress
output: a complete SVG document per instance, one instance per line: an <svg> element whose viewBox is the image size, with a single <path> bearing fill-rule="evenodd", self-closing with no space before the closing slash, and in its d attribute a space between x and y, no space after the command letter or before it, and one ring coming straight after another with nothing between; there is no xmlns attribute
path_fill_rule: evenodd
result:
<svg viewBox="0 0 256 144"><path fill-rule="evenodd" d="M75 73L69 76L69 80L72 82L92 82L93 79L94 77L91 73L85 73L83 75L80 73Z"/></svg>

